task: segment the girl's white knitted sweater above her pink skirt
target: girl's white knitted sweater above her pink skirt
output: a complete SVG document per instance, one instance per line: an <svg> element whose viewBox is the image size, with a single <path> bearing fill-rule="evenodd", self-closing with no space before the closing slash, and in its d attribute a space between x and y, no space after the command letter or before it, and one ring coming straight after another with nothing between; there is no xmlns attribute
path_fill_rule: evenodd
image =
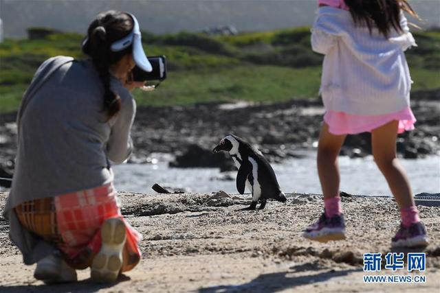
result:
<svg viewBox="0 0 440 293"><path fill-rule="evenodd" d="M411 78L404 51L417 46L401 13L403 33L388 39L355 25L349 11L318 9L311 47L325 54L320 93L326 110L351 115L383 115L410 106Z"/></svg>

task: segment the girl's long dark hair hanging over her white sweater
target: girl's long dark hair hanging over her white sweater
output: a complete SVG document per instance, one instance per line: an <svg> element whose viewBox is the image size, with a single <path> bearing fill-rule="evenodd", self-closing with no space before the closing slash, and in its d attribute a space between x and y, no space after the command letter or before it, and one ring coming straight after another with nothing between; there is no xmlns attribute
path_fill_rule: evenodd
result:
<svg viewBox="0 0 440 293"><path fill-rule="evenodd" d="M403 32L400 25L400 11L408 12L419 19L406 0L344 0L350 8L355 23L366 23L371 32L373 25L388 37L391 28Z"/></svg>

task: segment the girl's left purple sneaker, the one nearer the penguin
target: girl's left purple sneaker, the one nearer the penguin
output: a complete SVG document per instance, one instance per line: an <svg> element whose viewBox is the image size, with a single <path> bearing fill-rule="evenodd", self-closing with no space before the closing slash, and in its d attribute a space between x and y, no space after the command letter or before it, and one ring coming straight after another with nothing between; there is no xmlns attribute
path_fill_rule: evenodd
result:
<svg viewBox="0 0 440 293"><path fill-rule="evenodd" d="M319 242L345 239L344 215L327 218L325 213L322 213L318 222L305 229L303 237Z"/></svg>

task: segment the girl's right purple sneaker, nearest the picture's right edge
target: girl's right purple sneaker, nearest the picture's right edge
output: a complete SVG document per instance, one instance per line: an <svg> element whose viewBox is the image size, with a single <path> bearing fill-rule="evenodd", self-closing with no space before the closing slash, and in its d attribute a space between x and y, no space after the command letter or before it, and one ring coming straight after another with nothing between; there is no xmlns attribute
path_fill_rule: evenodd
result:
<svg viewBox="0 0 440 293"><path fill-rule="evenodd" d="M408 228L400 224L399 231L397 231L395 237L391 239L392 247L415 247L415 246L428 246L428 236L426 230L421 222L412 224Z"/></svg>

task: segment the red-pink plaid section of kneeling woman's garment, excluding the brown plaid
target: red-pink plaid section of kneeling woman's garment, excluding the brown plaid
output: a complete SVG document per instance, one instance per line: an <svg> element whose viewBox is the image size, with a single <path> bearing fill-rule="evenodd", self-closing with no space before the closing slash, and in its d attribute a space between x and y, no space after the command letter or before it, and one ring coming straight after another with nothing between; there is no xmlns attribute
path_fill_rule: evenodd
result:
<svg viewBox="0 0 440 293"><path fill-rule="evenodd" d="M63 239L57 246L70 261L82 259L82 254L87 252L86 248L98 253L101 248L102 222L109 218L121 218L126 226L124 250L128 253L128 262L124 263L122 271L136 266L141 257L138 244L142 235L122 217L112 183L55 196L54 203L58 233Z"/></svg>

